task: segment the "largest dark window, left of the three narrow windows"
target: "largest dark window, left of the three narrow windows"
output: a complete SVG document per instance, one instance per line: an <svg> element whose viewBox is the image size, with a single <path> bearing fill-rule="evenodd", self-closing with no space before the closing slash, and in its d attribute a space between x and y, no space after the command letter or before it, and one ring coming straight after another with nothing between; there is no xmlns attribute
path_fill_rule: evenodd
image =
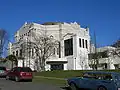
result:
<svg viewBox="0 0 120 90"><path fill-rule="evenodd" d="M65 56L73 55L73 38L64 41Z"/></svg>

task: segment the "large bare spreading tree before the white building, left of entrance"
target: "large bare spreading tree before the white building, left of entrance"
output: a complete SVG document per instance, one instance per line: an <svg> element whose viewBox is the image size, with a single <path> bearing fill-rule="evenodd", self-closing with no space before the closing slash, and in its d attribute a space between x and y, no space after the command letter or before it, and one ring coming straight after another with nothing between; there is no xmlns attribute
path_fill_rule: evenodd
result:
<svg viewBox="0 0 120 90"><path fill-rule="evenodd" d="M46 33L35 33L32 32L31 37L27 37L27 42L24 43L22 50L26 50L25 53L30 53L32 49L34 49L35 62L40 67L39 70L45 70L46 60L54 54L55 48L58 46L58 42L47 36ZM28 50L29 49L29 50ZM24 53L24 55L25 55ZM37 67L38 67L37 66Z"/></svg>

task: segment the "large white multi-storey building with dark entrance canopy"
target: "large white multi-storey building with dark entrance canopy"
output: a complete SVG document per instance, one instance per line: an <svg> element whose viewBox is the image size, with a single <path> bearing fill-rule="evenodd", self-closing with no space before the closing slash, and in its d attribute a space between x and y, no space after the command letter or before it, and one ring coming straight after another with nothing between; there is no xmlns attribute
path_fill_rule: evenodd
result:
<svg viewBox="0 0 120 90"><path fill-rule="evenodd" d="M14 35L15 43L9 43L9 55L20 55L20 44L27 39L31 40L31 31L37 34L44 31L46 35L52 36L60 42L60 56L55 54L46 61L46 70L81 70L90 69L88 65L88 53L90 49L89 28L82 28L74 23L25 23ZM36 69L34 58L26 54L25 66ZM19 59L18 66L22 66L23 60ZM28 65L29 63L29 65Z"/></svg>

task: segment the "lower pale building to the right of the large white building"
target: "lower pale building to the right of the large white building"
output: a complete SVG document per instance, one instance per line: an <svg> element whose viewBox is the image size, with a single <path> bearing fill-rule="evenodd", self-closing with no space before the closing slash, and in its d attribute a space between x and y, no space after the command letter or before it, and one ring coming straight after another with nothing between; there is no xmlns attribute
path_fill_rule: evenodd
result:
<svg viewBox="0 0 120 90"><path fill-rule="evenodd" d="M118 51L117 48L111 46L100 47L96 49L96 53L99 54L98 57L98 69L119 69L120 68L120 56L115 52ZM95 52L92 52L95 53ZM89 65L92 67L94 59L89 60Z"/></svg>

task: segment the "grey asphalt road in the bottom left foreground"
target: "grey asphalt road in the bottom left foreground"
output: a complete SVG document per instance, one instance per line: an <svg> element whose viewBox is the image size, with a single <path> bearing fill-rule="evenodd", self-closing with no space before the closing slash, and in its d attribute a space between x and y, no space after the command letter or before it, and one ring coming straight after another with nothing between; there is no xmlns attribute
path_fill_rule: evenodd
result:
<svg viewBox="0 0 120 90"><path fill-rule="evenodd" d="M15 82L0 78L0 90L65 90L58 86L33 82Z"/></svg>

